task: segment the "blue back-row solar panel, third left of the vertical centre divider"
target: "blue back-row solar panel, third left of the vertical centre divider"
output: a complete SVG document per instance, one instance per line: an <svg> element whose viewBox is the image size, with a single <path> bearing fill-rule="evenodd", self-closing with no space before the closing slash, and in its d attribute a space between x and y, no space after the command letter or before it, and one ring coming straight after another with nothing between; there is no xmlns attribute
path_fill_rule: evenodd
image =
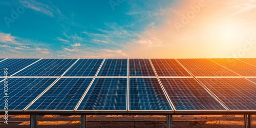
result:
<svg viewBox="0 0 256 128"><path fill-rule="evenodd" d="M41 59L14 76L61 76L77 59Z"/></svg>

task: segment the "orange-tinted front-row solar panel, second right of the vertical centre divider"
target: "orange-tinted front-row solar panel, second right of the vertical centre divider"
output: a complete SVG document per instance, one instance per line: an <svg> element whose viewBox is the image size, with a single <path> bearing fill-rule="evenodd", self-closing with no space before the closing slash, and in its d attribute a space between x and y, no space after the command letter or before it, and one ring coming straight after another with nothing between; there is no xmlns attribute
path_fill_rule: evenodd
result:
<svg viewBox="0 0 256 128"><path fill-rule="evenodd" d="M160 78L176 110L225 110L194 78Z"/></svg>

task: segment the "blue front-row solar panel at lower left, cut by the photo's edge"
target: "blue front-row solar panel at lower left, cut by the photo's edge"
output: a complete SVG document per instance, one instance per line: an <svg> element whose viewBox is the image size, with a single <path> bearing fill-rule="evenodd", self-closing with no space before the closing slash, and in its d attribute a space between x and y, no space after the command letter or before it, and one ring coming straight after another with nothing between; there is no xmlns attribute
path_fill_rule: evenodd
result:
<svg viewBox="0 0 256 128"><path fill-rule="evenodd" d="M8 110L23 110L39 94L46 90L56 78L8 78ZM4 82L0 83L4 85ZM1 101L5 99L1 89ZM0 103L5 106L4 102ZM2 108L4 109L4 107Z"/></svg>

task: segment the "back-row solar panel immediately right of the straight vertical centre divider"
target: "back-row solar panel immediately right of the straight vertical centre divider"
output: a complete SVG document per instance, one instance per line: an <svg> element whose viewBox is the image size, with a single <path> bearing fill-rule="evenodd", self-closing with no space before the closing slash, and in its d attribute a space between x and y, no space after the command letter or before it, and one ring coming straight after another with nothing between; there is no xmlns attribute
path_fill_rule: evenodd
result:
<svg viewBox="0 0 256 128"><path fill-rule="evenodd" d="M149 59L129 59L130 76L156 76Z"/></svg>

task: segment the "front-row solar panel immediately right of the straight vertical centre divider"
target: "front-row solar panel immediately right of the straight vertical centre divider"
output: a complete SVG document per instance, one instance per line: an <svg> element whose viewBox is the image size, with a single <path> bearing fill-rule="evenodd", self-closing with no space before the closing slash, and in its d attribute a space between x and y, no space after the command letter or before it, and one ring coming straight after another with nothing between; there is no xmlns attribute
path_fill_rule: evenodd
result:
<svg viewBox="0 0 256 128"><path fill-rule="evenodd" d="M157 78L130 78L130 110L172 110Z"/></svg>

